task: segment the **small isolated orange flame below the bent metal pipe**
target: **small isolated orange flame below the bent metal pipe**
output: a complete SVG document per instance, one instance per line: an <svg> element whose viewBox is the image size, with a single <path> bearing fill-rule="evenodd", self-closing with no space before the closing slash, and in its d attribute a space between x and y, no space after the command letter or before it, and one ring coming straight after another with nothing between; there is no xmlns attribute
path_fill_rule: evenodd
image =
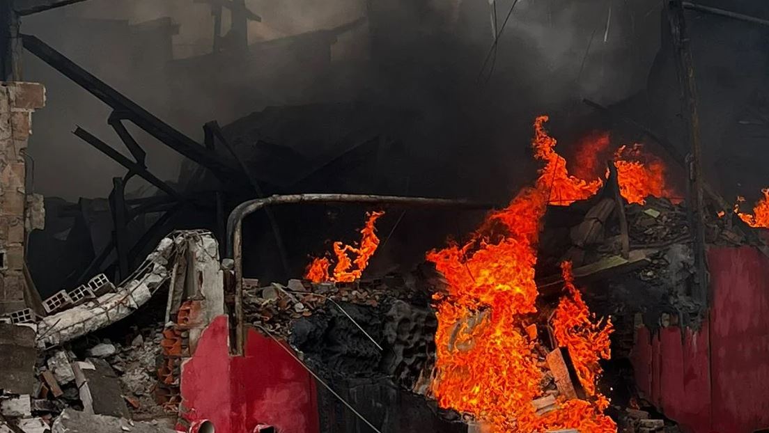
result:
<svg viewBox="0 0 769 433"><path fill-rule="evenodd" d="M334 275L328 271L331 268L331 260L326 257L318 257L314 258L308 265L305 278L313 282L352 282L361 278L363 271L368 266L368 260L379 246L375 223L382 215L384 212L366 214L366 224L361 228L360 246L345 245L341 241L334 242L333 248L336 256ZM351 255L355 258L350 258Z"/></svg>

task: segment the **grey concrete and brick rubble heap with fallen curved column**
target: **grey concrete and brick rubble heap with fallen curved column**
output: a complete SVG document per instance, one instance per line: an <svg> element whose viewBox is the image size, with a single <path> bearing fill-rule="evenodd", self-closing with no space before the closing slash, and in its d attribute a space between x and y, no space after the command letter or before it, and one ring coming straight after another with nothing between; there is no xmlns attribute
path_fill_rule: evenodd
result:
<svg viewBox="0 0 769 433"><path fill-rule="evenodd" d="M187 278L188 285L186 271L196 276ZM191 291L198 278L218 282ZM118 321L166 287L168 305L155 308L160 315L145 310L138 318L158 320L141 329L131 325L127 333L115 331L115 326L125 326L125 321ZM185 301L187 293L195 300ZM166 296L162 298L165 304ZM188 348L188 335L199 336L208 315L221 315L221 302L215 239L207 231L177 231L163 238L117 287L105 275L97 275L87 285L46 299L45 317L30 309L6 316L0 323L0 365L7 366L7 373L0 375L0 432L173 431L179 398L169 397L172 393L167 391L178 388L178 368L165 371L164 366L170 362L178 367L182 356L190 354L188 349L174 351L165 345L167 334L184 334L185 341L178 342ZM163 313L173 320L163 320ZM120 341L98 337L109 325ZM142 419L152 422L135 422ZM168 426L161 426L161 420Z"/></svg>

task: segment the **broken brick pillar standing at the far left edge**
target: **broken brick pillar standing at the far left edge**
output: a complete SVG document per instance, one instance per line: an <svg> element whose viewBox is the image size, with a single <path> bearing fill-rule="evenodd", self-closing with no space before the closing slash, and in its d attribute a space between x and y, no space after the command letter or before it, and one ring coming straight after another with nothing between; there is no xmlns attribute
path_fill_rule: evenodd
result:
<svg viewBox="0 0 769 433"><path fill-rule="evenodd" d="M25 304L24 248L27 192L25 148L32 112L45 104L38 83L0 82L0 314Z"/></svg>

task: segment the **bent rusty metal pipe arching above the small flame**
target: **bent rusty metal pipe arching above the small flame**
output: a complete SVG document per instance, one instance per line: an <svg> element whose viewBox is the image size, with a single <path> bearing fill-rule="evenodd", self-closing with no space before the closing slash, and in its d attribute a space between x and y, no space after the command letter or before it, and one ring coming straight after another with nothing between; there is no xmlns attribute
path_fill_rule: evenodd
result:
<svg viewBox="0 0 769 433"><path fill-rule="evenodd" d="M399 197L394 195L355 195L355 194L294 194L273 195L268 198L249 200L238 205L230 212L227 219L227 253L235 262L235 344L232 351L235 355L243 354L244 316L243 316L243 218L261 208L289 204L358 204L378 206L405 206L423 208L450 208L467 210L488 210L494 205L488 203L470 202L450 198Z"/></svg>

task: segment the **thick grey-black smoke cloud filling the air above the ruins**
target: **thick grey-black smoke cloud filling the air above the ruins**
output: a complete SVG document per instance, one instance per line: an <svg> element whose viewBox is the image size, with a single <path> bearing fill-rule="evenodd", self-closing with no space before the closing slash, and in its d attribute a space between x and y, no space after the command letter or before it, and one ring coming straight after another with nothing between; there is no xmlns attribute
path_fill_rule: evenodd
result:
<svg viewBox="0 0 769 433"><path fill-rule="evenodd" d="M511 2L497 2L498 25ZM205 72L169 67L168 47L142 40L135 26L171 17L180 26L170 47L173 58L204 55L213 32L204 3L90 0L26 18L23 29L194 138L201 138L205 121L231 122L266 105L356 100L407 108L421 134L404 140L413 148L414 164L424 168L412 192L499 196L492 198L509 195L531 178L534 115L551 113L552 128L568 131L587 112L582 97L610 103L640 91L659 34L657 0L521 0L481 71L492 43L486 0L250 0L248 5L264 18L250 25L252 43L371 16L368 25L338 38L331 68L311 80L295 78L307 65L265 63L260 68L270 78L264 82L295 82L257 86L261 78L238 76L222 64L221 73L231 82L217 92L178 88L179 82L205 80ZM69 132L83 125L117 145L105 125L108 109L29 55L25 68L28 79L48 85L49 96L48 107L35 115L30 149L35 188L68 199L107 195L109 179L124 170ZM275 76L285 78L280 82ZM137 136L151 170L175 178L178 155ZM489 185L500 188L490 192Z"/></svg>

